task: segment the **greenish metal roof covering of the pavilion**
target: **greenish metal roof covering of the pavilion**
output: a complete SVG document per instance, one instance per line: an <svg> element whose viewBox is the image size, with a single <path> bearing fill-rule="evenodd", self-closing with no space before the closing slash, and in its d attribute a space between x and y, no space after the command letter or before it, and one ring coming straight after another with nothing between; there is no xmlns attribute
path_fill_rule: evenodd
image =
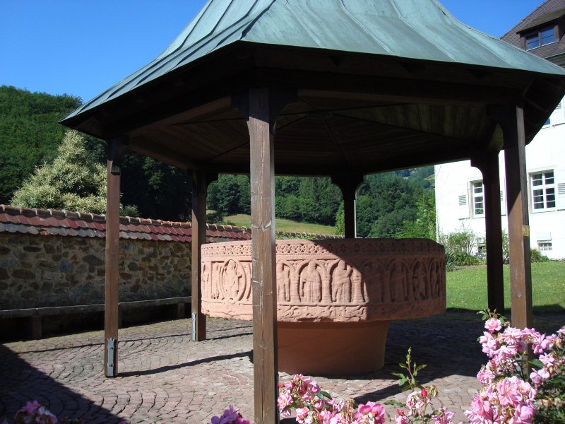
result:
<svg viewBox="0 0 565 424"><path fill-rule="evenodd" d="M559 66L460 23L436 0L209 0L159 57L67 118L234 42L565 75Z"/></svg>

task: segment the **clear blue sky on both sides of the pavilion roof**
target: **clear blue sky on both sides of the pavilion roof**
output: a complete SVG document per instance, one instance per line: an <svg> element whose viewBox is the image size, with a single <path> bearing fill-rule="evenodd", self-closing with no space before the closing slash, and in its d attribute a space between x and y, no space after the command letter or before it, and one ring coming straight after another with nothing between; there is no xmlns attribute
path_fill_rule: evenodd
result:
<svg viewBox="0 0 565 424"><path fill-rule="evenodd" d="M0 85L90 100L157 57L205 2L0 0ZM441 3L499 37L542 0Z"/></svg>

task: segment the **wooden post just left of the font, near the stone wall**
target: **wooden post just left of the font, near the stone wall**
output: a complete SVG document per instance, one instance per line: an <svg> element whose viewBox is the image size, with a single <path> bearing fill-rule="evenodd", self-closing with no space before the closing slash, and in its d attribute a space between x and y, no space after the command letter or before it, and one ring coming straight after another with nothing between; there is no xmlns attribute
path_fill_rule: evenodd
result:
<svg viewBox="0 0 565 424"><path fill-rule="evenodd" d="M218 175L203 171L192 173L192 245L191 245L191 309L192 340L206 340L206 315L202 313L202 255L201 247L206 243L206 189L218 179Z"/></svg>

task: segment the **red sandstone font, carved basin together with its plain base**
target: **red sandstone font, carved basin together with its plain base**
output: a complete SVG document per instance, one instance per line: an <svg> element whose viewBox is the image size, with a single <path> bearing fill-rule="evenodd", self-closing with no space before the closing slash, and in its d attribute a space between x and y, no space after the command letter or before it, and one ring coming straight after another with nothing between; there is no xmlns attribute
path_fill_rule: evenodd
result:
<svg viewBox="0 0 565 424"><path fill-rule="evenodd" d="M379 369L391 319L446 308L444 247L431 240L278 240L276 253L278 364L290 374ZM204 313L253 319L251 242L203 245L202 285Z"/></svg>

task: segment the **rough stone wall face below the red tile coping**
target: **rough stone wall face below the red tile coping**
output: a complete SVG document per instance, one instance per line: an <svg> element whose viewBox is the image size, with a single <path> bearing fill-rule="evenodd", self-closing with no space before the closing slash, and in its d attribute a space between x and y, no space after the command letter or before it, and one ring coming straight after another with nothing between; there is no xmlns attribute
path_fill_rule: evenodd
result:
<svg viewBox="0 0 565 424"><path fill-rule="evenodd" d="M0 232L0 309L104 302L105 239ZM121 240L120 301L190 295L191 244Z"/></svg>

